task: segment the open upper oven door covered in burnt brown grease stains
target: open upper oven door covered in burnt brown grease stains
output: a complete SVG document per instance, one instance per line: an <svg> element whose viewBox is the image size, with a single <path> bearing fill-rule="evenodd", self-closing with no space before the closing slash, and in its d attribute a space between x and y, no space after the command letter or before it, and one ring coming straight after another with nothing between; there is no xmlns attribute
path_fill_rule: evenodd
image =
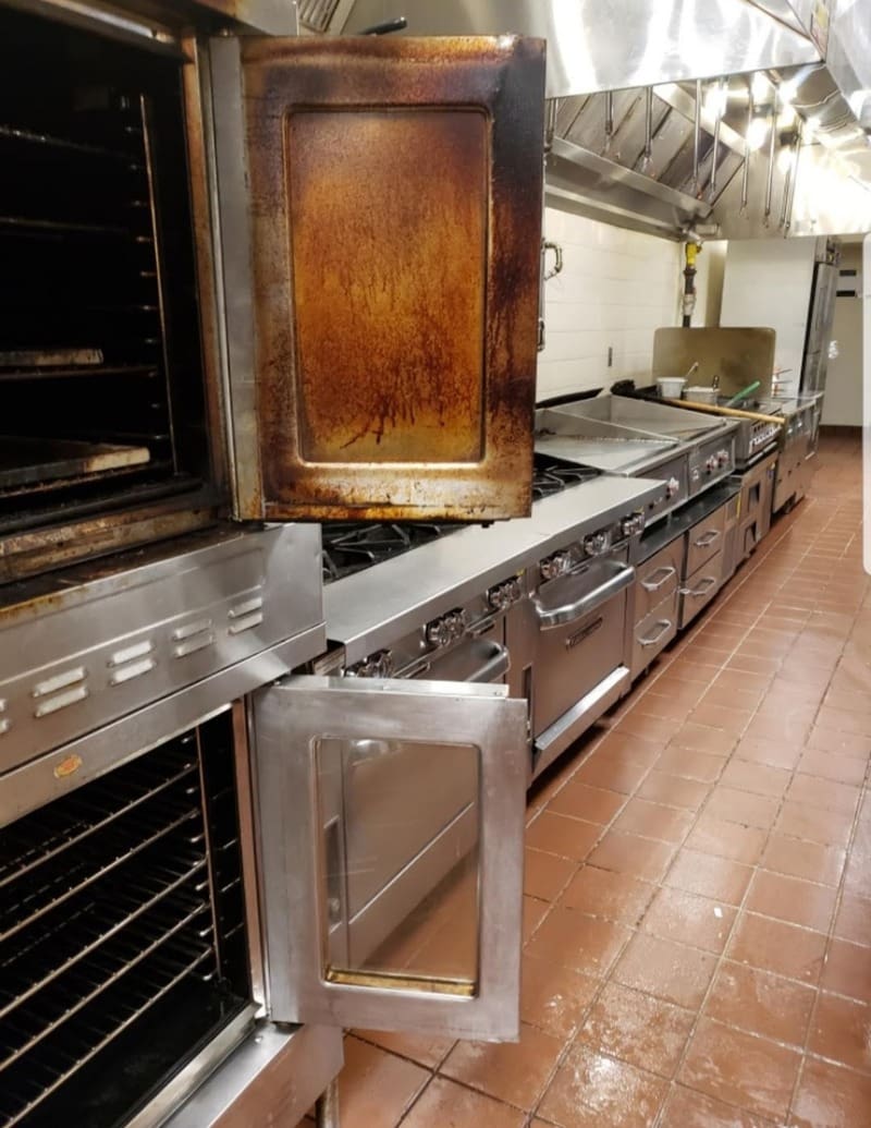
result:
<svg viewBox="0 0 871 1128"><path fill-rule="evenodd" d="M543 42L210 56L237 515L528 515Z"/></svg>

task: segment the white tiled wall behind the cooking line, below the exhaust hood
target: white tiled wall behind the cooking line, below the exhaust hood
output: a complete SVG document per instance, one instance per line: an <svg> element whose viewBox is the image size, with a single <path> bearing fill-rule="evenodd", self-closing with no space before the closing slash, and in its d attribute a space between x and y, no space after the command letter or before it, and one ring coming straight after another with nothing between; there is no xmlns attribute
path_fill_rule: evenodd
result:
<svg viewBox="0 0 871 1128"><path fill-rule="evenodd" d="M544 288L537 398L649 379L654 331L681 324L682 245L550 208L544 231L565 268Z"/></svg>

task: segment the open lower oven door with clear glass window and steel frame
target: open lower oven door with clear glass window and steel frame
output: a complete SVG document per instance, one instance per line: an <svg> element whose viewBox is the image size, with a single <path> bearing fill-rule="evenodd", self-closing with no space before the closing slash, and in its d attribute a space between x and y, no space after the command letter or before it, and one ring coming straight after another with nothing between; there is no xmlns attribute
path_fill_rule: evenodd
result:
<svg viewBox="0 0 871 1128"><path fill-rule="evenodd" d="M526 703L290 677L255 696L272 1016L515 1040Z"/></svg>

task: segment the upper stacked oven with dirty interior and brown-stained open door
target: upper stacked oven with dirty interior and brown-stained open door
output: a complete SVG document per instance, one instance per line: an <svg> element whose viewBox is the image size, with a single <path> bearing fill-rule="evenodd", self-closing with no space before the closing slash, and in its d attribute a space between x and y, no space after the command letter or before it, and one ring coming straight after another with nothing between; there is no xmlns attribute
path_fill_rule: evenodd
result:
<svg viewBox="0 0 871 1128"><path fill-rule="evenodd" d="M530 511L543 44L281 11L0 3L0 580Z"/></svg>

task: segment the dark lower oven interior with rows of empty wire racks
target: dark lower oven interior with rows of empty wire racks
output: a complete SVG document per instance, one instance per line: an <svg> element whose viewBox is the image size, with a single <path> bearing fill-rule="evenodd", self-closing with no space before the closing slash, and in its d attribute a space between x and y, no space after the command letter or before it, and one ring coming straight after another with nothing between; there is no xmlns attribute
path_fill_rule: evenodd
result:
<svg viewBox="0 0 871 1128"><path fill-rule="evenodd" d="M234 770L228 710L0 830L3 1128L122 1123L249 1005Z"/></svg>

